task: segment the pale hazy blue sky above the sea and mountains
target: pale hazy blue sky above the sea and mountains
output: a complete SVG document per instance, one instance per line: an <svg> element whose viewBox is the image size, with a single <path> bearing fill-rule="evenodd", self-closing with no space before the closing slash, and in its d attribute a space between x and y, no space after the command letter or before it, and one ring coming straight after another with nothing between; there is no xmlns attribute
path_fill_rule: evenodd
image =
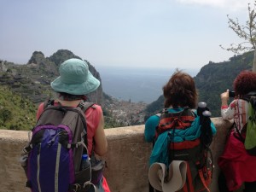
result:
<svg viewBox="0 0 256 192"><path fill-rule="evenodd" d="M201 68L234 55L253 0L0 0L0 59L69 49L97 66Z"/></svg>

